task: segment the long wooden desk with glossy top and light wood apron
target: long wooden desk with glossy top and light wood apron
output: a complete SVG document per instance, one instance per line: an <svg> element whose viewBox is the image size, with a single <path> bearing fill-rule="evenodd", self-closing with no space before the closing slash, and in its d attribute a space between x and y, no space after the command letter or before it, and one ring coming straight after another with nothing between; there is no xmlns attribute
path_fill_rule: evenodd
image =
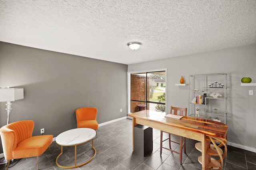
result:
<svg viewBox="0 0 256 170"><path fill-rule="evenodd" d="M179 120L166 118L164 117L165 115L166 113L149 110L128 114L128 116L132 117L133 127L138 124L145 125L202 142L202 170L209 170L207 164L210 162L210 156L206 154L206 151L210 148L210 142L206 140L206 135L225 138L228 126L224 123L207 119L184 116Z"/></svg>

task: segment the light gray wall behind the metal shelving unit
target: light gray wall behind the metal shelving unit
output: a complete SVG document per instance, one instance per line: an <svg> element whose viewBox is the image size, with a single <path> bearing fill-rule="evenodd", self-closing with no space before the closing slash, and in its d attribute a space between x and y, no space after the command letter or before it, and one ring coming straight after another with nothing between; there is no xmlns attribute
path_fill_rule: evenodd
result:
<svg viewBox="0 0 256 170"><path fill-rule="evenodd" d="M256 83L256 44L128 65L128 72L167 68L166 108L188 107L188 86L175 86L192 74L227 73L228 144L256 152L256 86L241 86L242 77ZM254 90L254 95L249 95Z"/></svg>

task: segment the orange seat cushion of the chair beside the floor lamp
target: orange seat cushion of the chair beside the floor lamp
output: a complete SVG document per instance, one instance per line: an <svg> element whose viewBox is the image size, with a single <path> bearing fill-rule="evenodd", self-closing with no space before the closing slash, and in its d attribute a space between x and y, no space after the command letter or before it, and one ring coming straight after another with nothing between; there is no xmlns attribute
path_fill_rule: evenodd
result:
<svg viewBox="0 0 256 170"><path fill-rule="evenodd" d="M52 143L52 138L53 135L41 135L22 140L12 151L13 158L28 158L43 154Z"/></svg>

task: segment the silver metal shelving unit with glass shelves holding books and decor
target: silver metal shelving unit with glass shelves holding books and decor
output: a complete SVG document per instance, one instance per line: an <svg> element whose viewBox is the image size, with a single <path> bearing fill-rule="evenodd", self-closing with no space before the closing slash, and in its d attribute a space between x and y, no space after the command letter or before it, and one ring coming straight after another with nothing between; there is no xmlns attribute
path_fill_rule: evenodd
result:
<svg viewBox="0 0 256 170"><path fill-rule="evenodd" d="M192 117L203 119L220 119L227 122L227 74L200 74L189 75L189 109ZM196 96L206 93L205 104L192 103ZM211 93L219 93L221 97L210 97ZM199 116L196 116L196 108L199 108Z"/></svg>

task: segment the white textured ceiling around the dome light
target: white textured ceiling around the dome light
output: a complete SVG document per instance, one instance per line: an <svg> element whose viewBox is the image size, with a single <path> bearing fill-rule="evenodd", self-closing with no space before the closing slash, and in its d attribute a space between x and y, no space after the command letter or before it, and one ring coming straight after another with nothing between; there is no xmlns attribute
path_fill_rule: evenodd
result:
<svg viewBox="0 0 256 170"><path fill-rule="evenodd" d="M140 63L256 43L256 0L0 1L0 41Z"/></svg>

